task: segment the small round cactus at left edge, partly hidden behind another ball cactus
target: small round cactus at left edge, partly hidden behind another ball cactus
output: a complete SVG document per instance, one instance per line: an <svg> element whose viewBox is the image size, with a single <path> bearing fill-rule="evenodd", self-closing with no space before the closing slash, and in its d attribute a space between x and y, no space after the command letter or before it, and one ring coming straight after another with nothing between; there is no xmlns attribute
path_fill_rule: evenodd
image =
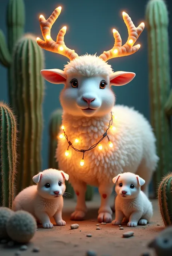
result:
<svg viewBox="0 0 172 256"><path fill-rule="evenodd" d="M14 212L7 207L0 207L0 239L8 237L6 224L13 213Z"/></svg>

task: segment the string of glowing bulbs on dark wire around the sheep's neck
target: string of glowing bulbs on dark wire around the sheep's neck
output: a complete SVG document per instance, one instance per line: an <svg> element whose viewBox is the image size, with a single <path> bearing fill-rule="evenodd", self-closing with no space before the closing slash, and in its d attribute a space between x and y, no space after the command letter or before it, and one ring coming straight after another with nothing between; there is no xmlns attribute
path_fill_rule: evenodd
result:
<svg viewBox="0 0 172 256"><path fill-rule="evenodd" d="M61 129L64 131L64 133L63 133L63 134L60 134L59 137L60 137L61 139L65 137L66 140L67 140L67 142L68 142L68 144L69 144L69 146L67 147L67 150L66 150L66 152L65 152L66 157L69 155L69 147L71 147L72 149L74 149L74 150L77 151L77 152L82 152L82 153L83 153L83 157L82 157L82 159L81 159L80 165L83 166L83 165L84 165L84 154L85 154L85 152L86 152L86 151L89 151L89 150L91 150L91 149L94 149L97 145L98 145L99 150L102 150L103 147L102 147L102 145L101 145L100 142L101 142L105 137L107 137L107 139L108 139L108 145L109 145L110 147L113 147L113 143L110 141L110 139L109 139L109 137L108 137L108 135L107 135L107 131L108 131L109 128L111 128L112 130L116 130L116 127L112 126L113 118L116 119L116 116L114 116L114 115L112 114L112 112L111 112L111 119L110 119L110 121L109 121L109 125L108 125L108 127L107 127L105 133L103 134L102 138L101 138L97 143L95 143L94 145L92 145L89 149L81 149L81 150L76 149L76 148L73 146L73 144L69 141L69 139L68 139L68 137L67 137L67 135L66 135L66 133L65 133L65 127L64 127L64 125L62 125L62 126L61 126ZM79 142L79 138L76 138L76 139L75 139L75 142L78 143L78 142Z"/></svg>

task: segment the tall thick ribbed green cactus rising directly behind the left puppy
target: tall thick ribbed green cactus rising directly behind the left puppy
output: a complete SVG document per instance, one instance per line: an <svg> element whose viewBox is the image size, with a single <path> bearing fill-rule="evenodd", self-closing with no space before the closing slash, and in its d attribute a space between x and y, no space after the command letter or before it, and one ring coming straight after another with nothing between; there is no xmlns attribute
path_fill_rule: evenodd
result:
<svg viewBox="0 0 172 256"><path fill-rule="evenodd" d="M19 155L17 166L17 190L32 184L32 177L41 170L42 101L44 69L42 49L36 38L26 34L13 50L13 97L19 123Z"/></svg>

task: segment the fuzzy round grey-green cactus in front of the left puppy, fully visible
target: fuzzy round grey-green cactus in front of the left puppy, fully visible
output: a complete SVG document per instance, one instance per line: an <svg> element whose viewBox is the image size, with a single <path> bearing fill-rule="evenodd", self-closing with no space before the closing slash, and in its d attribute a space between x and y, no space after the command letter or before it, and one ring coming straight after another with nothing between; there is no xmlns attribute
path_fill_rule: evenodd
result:
<svg viewBox="0 0 172 256"><path fill-rule="evenodd" d="M36 220L26 211L16 211L6 224L8 236L18 243L28 243L37 228Z"/></svg>

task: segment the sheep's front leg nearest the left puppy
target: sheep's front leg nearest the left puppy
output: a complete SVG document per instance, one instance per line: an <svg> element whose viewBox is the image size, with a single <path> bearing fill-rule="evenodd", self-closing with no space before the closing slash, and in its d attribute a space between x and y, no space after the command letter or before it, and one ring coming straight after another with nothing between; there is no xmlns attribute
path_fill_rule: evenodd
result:
<svg viewBox="0 0 172 256"><path fill-rule="evenodd" d="M72 184L74 191L77 195L77 206L75 211L71 214L71 220L83 220L87 211L87 207L85 204L85 193L87 189L87 185L84 182L77 181Z"/></svg>

